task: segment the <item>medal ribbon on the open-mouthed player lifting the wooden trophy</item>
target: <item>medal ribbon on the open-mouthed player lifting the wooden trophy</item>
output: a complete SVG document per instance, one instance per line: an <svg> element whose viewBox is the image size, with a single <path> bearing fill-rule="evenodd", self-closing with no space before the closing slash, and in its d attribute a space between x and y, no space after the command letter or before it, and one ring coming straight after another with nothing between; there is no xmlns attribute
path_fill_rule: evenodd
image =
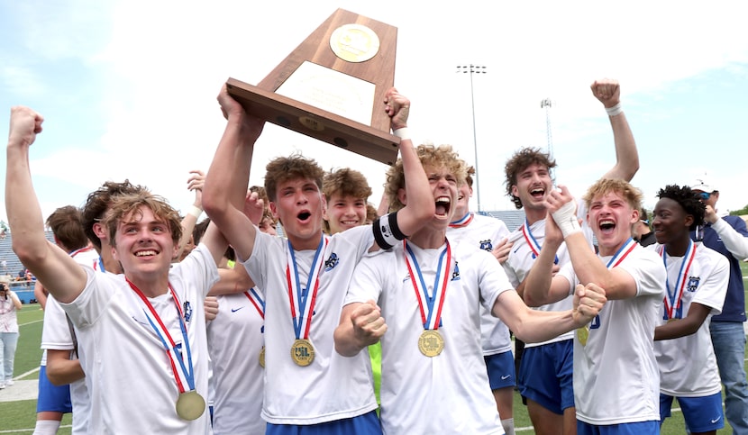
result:
<svg viewBox="0 0 748 435"><path fill-rule="evenodd" d="M291 319L294 321L296 340L302 338L305 340L309 339L309 329L312 326L312 313L315 311L317 289L319 288L319 274L322 272L322 267L324 266L322 254L325 247L327 247L327 239L324 238L323 234L315 252L315 259L312 261L312 266L309 267L309 276L306 279L305 291L299 283L294 247L291 246L291 241L288 240L286 280L288 283L288 300L291 304ZM293 274L291 273L292 266ZM309 297L310 293L312 294L311 298Z"/></svg>

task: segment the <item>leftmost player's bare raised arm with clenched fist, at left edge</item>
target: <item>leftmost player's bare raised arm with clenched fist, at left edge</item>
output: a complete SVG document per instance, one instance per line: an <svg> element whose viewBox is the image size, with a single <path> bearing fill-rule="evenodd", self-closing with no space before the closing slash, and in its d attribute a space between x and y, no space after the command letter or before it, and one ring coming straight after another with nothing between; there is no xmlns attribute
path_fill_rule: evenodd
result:
<svg viewBox="0 0 748 435"><path fill-rule="evenodd" d="M13 230L13 250L59 302L72 302L86 286L86 272L44 236L41 207L33 189L29 148L41 132L41 114L23 106L11 109L5 171L5 210Z"/></svg>

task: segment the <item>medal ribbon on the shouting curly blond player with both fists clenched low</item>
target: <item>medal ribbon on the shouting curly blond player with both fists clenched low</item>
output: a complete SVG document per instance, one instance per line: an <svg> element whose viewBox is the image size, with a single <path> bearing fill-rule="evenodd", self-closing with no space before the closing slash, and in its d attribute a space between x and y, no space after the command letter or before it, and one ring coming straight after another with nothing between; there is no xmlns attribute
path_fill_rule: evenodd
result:
<svg viewBox="0 0 748 435"><path fill-rule="evenodd" d="M410 282L413 284L415 296L418 298L418 307L421 309L421 321L424 323L424 330L437 330L442 325L444 295L447 293L447 285L450 282L451 276L452 249L450 249L450 242L447 240L447 246L439 255L436 276L433 278L433 295L429 295L428 293L428 287L424 283L421 268L418 267L418 261L415 259L413 250L407 246L407 240L403 240L403 247L405 248L406 265L410 274ZM418 276L418 279L415 276ZM434 307L436 307L436 313L434 313Z"/></svg>

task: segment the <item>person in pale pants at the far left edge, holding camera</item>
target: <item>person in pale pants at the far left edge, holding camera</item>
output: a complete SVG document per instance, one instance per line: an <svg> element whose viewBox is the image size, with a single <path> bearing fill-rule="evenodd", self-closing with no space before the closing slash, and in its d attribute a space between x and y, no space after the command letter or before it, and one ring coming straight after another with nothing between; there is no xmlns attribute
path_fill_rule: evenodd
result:
<svg viewBox="0 0 748 435"><path fill-rule="evenodd" d="M23 305L10 289L10 278L0 276L0 390L13 385L13 360L18 344L18 320L15 312Z"/></svg>

